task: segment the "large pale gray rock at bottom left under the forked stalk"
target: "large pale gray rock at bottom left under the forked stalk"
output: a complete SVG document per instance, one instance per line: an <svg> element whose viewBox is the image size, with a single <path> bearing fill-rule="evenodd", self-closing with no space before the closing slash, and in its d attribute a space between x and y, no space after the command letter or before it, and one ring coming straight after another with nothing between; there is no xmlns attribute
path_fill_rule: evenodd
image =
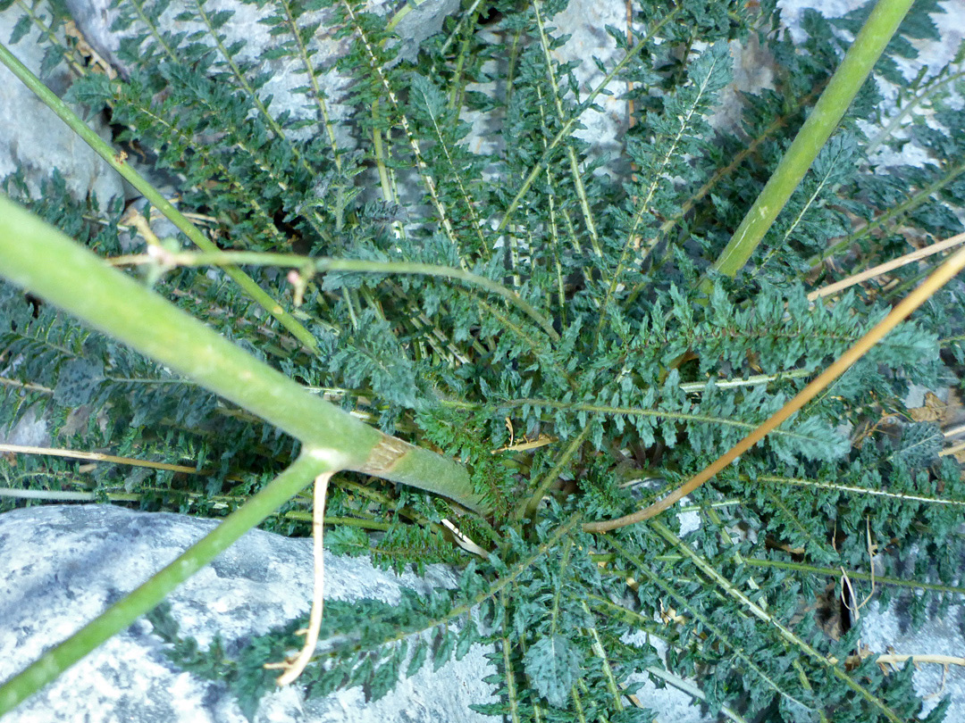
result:
<svg viewBox="0 0 965 723"><path fill-rule="evenodd" d="M95 618L216 524L109 505L32 507L0 515L0 680ZM325 564L328 600L398 603L403 586L427 594L455 584L455 575L442 566L428 566L427 575L418 577L395 576L366 559L332 554ZM202 646L215 633L231 645L307 614L311 570L310 540L254 530L169 597L172 614L181 634ZM179 671L163 647L150 624L139 620L22 703L4 723L244 723L224 685ZM482 682L496 672L485 653L474 645L435 674L426 665L373 703L365 703L360 688L305 701L297 686L290 686L262 699L256 720L491 721L468 709L471 703L495 702Z"/></svg>

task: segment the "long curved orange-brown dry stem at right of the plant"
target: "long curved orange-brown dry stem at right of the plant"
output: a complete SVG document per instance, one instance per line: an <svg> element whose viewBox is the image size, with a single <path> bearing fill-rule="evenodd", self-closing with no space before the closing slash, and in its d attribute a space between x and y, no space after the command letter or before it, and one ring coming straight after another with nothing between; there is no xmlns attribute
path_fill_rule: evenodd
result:
<svg viewBox="0 0 965 723"><path fill-rule="evenodd" d="M950 239L951 240L951 239ZM882 319L868 334L858 339L855 344L848 349L841 357L825 369L811 384L801 389L798 394L788 401L784 407L778 410L764 421L756 430L751 432L740 442L734 444L730 451L721 455L714 463L704 468L701 472L691 477L686 483L678 487L670 495L660 499L649 507L634 512L631 515L624 515L617 520L604 522L589 522L583 525L587 532L608 532L609 530L625 527L634 522L643 522L651 517L659 515L668 507L673 505L681 497L689 495L698 487L707 482L715 474L725 469L740 455L760 442L768 433L780 426L786 419L810 402L822 389L826 388L834 380L841 376L854 362L865 356L868 350L878 341L884 338L898 324L904 321L911 313L924 304L938 289L965 269L965 249L960 249L955 254L939 266L922 284L906 296L891 313Z"/></svg>

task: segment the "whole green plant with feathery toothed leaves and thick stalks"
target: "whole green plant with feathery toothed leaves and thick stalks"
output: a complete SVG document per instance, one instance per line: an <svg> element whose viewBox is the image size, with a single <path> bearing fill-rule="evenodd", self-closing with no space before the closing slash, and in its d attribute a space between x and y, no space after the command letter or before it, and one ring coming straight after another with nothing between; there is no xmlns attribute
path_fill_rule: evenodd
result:
<svg viewBox="0 0 965 723"><path fill-rule="evenodd" d="M25 18L18 35L63 20L14 1ZM373 603L363 614L329 604L322 632L347 642L305 671L309 695L362 684L376 696L400 670L484 639L503 696L484 711L512 721L643 720L628 677L647 670L693 678L709 710L735 719L910 719L921 707L911 666L883 675L857 655L860 628L825 634L814 601L829 584L842 594L841 570L865 579L871 545L882 551L884 600L909 594L921 615L965 592L955 586L965 552L955 531L960 470L942 455L937 427L908 421L902 401L909 385L938 388L960 375L959 285L695 489L698 528L684 532L666 515L591 534L720 458L927 271L909 265L892 284L812 303L807 289L839 276L821 261L872 266L906 251L912 229L926 238L962 230L965 113L948 102L961 90L957 66L913 87L907 102L929 103L932 124L904 105L887 117L878 92L899 80L890 58L908 54L907 39L935 33L934 3L911 9L864 83L908 5L883 0L837 23L809 13L808 37L795 45L768 3L647 3L634 9L629 38L610 29L623 56L601 67L607 82L577 94L574 68L556 60L563 41L550 22L560 3L474 3L415 61L400 62L392 23L353 0L280 0L264 20L283 39L270 55L304 68L299 92L316 114L304 121L272 113L267 76L240 65L240 47L221 36L230 14L195 3L183 19L205 29L173 35L157 24L165 4L123 0L122 23L137 28L122 48L128 78L87 71L71 47L49 52L77 67L73 98L108 107L123 128L116 140L156 153L155 165L182 181L179 207L210 226L194 228L148 196L102 142L201 253L141 224L151 253L124 254L120 207L101 215L91 200L70 202L56 178L30 200L9 179L10 194L63 233L9 201L0 207L0 274L42 300L0 286L0 423L41 409L66 447L195 473L103 465L84 480L69 463L23 455L0 457L0 470L9 486L54 498L80 485L99 498L133 493L149 509L233 509L204 549L185 553L188 571L260 520L305 533L298 489L355 470L332 479L330 550L464 571L457 590L430 600ZM493 11L497 40L478 23ZM841 64L847 43L836 27L862 26L849 55L859 60ZM351 39L339 69L352 79L355 148L340 145L317 85L328 71L313 61L319 32ZM777 62L776 90L745 96L739 131L714 131L708 119L731 78L727 42L752 34ZM16 66L6 49L2 59ZM839 65L846 72L832 80ZM493 81L498 93L480 92ZM605 173L573 133L610 81L627 84L635 120L623 174ZM819 110L832 111L812 114L799 135L818 97ZM470 110L499 121L490 155L466 146ZM869 140L858 120L881 133ZM795 136L803 140L785 153ZM908 143L932 162L876 173L869 148ZM790 172L782 156L794 159ZM774 224L744 233L765 182L785 191L758 203ZM378 198L367 193L374 187ZM124 217L124 228L132 223ZM217 252L211 237L232 251ZM142 278L91 251L140 267ZM466 564L447 531L454 520L486 556ZM179 580L159 578L55 648L52 667L0 688L0 710ZM274 684L262 664L290 648L299 625L225 662L217 645L199 651L179 637L163 611L152 620L175 656L230 683L249 713ZM665 640L666 661L626 644L629 629ZM428 632L431 646L425 634L409 637Z"/></svg>

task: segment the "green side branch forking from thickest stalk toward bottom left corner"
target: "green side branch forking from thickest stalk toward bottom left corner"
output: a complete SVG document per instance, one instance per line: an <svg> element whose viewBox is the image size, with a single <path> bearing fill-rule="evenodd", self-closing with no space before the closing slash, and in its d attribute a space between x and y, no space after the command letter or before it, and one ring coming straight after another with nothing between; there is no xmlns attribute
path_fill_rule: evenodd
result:
<svg viewBox="0 0 965 723"><path fill-rule="evenodd" d="M317 457L312 449L306 450L289 469L205 537L184 550L178 559L0 686L0 715L13 710L41 687L56 680L75 662L152 610L180 583L228 549L241 535L262 522L317 475L330 469L324 458Z"/></svg>

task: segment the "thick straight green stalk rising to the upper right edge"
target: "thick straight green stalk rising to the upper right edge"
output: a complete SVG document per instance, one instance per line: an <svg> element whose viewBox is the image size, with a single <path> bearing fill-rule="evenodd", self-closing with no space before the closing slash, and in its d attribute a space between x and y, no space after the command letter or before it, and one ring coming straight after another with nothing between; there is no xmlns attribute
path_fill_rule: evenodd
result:
<svg viewBox="0 0 965 723"><path fill-rule="evenodd" d="M892 39L913 0L878 0L858 37L848 48L841 66L818 98L808 120L771 175L758 200L754 201L731 241L714 263L714 269L730 277L747 262L768 228L774 223L817 152L838 127L854 96L868 78L888 41ZM709 292L710 282L702 289Z"/></svg>

